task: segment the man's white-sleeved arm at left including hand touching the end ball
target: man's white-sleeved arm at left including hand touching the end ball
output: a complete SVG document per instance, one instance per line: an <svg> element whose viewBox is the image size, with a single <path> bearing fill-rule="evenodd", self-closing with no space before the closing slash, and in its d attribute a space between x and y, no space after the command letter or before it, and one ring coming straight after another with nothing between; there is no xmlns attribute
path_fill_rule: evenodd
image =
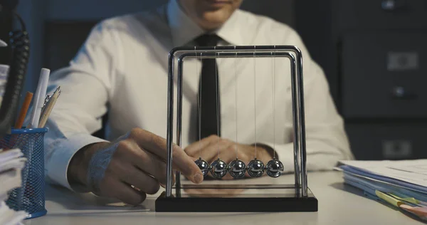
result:
<svg viewBox="0 0 427 225"><path fill-rule="evenodd" d="M107 102L120 87L120 31L101 23L70 66L53 74L51 85L63 92L47 125L46 170L48 179L74 191L139 204L167 182L166 140L137 127L111 142L90 135L100 129ZM191 182L203 181L180 147L172 152L174 169Z"/></svg>

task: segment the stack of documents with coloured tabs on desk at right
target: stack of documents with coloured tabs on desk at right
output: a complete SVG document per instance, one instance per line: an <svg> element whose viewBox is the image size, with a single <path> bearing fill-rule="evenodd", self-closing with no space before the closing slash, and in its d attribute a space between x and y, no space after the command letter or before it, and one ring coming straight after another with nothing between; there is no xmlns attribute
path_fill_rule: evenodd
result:
<svg viewBox="0 0 427 225"><path fill-rule="evenodd" d="M427 220L427 159L340 164L344 182L366 197Z"/></svg>

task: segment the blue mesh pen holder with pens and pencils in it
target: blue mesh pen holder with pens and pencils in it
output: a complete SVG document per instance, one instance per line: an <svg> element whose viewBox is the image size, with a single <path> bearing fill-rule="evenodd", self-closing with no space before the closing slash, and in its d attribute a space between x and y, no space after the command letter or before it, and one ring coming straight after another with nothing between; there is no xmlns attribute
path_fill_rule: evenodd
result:
<svg viewBox="0 0 427 225"><path fill-rule="evenodd" d="M2 149L19 148L27 162L22 169L22 185L11 191L6 204L26 211L26 219L46 215L43 138L48 128L12 129L0 142Z"/></svg>

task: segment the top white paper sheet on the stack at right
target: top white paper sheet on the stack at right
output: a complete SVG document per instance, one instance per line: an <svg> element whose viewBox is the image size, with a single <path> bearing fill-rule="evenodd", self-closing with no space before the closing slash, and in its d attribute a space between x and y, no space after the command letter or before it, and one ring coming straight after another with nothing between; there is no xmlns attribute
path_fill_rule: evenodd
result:
<svg viewBox="0 0 427 225"><path fill-rule="evenodd" d="M351 167L427 187L427 159L402 161L341 161Z"/></svg>

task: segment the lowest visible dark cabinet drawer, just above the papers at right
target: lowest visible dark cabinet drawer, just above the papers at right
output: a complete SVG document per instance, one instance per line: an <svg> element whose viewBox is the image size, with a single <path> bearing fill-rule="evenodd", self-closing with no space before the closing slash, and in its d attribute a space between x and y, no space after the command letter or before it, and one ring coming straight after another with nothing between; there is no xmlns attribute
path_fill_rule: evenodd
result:
<svg viewBox="0 0 427 225"><path fill-rule="evenodd" d="M359 160L426 159L427 125L347 125Z"/></svg>

